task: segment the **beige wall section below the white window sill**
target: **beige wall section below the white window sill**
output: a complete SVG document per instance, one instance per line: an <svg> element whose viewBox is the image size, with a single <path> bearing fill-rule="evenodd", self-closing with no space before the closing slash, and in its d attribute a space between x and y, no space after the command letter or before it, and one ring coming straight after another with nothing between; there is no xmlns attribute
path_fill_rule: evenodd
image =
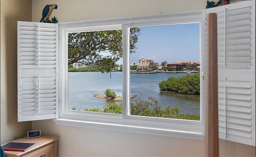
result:
<svg viewBox="0 0 256 157"><path fill-rule="evenodd" d="M59 157L204 157L204 141L32 122L33 130L58 135ZM220 157L255 157L255 147L220 141Z"/></svg>

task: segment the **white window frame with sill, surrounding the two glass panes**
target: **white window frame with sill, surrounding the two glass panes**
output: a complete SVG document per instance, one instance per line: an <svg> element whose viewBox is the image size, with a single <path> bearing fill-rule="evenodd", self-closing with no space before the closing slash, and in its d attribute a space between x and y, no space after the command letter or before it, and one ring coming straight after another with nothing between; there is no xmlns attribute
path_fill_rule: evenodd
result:
<svg viewBox="0 0 256 157"><path fill-rule="evenodd" d="M203 35L205 30L204 18L204 11L193 11L135 18L59 23L60 92L59 119L54 119L56 124L115 131L120 130L124 132L137 132L140 134L203 139L205 117L205 80L203 79L205 71L205 36ZM128 28L183 23L200 23L200 121L129 115L127 104L130 104L130 99L126 99L130 96L130 53L128 50L129 47L126 47L126 45L130 45L128 41L130 37L130 35L128 36ZM123 35L123 114L67 110L67 33L113 29L122 29Z"/></svg>

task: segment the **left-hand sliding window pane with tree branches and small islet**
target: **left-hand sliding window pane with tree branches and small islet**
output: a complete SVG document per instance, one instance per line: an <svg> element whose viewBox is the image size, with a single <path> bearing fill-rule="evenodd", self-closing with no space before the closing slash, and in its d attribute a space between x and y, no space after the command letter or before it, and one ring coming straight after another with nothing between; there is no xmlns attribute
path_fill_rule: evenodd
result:
<svg viewBox="0 0 256 157"><path fill-rule="evenodd" d="M122 31L68 33L68 110L122 114Z"/></svg>

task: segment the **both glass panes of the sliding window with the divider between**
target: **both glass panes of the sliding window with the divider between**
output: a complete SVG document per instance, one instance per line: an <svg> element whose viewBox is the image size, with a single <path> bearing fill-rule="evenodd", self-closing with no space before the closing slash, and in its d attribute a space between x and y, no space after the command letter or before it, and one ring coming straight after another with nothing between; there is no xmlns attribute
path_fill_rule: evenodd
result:
<svg viewBox="0 0 256 157"><path fill-rule="evenodd" d="M123 25L128 32L113 25L67 29L67 112L200 122L200 22L167 23ZM122 45L126 37L127 51ZM189 43L186 48L184 43ZM180 68L172 69L173 64ZM130 82L122 81L123 71ZM163 87L173 77L176 87L185 80L186 89Z"/></svg>

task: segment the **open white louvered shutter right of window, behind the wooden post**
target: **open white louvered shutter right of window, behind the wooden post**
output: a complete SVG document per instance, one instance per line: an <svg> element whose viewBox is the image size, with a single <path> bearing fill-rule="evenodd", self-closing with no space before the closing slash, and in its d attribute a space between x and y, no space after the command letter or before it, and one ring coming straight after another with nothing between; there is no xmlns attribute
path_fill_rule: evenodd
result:
<svg viewBox="0 0 256 157"><path fill-rule="evenodd" d="M255 1L217 13L219 137L255 146Z"/></svg>

